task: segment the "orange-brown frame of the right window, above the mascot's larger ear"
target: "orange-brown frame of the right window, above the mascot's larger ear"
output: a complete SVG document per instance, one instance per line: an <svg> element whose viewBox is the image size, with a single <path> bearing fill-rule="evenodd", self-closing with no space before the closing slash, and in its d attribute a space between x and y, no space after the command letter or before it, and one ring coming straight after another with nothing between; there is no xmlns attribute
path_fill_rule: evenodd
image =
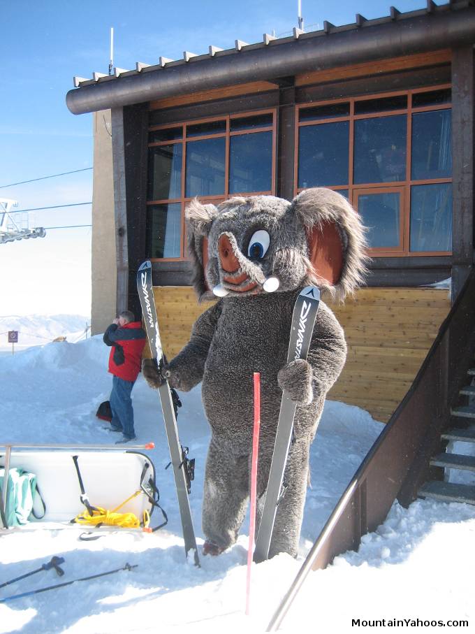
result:
<svg viewBox="0 0 475 634"><path fill-rule="evenodd" d="M339 99L325 99L319 101L307 101L295 105L295 154L294 154L294 196L304 191L305 187L298 187L298 152L299 152L299 130L301 127L309 125L328 124L339 121L349 122L349 155L348 155L348 180L346 185L328 186L335 192L340 190L348 190L348 198L351 205L357 208L358 196L363 192L365 194L377 193L378 189L388 190L397 188L401 191L402 214L400 222L402 223L402 233L400 235L400 247L395 250L387 247L374 247L368 250L372 257L425 257L425 256L450 256L452 251L410 251L410 226L411 226L411 187L414 185L436 185L453 182L453 175L446 178L432 178L427 180L411 180L411 143L412 143L412 115L416 113L426 113L434 110L452 110L452 99L446 103L437 103L432 106L413 106L412 98L414 94L423 92L435 92L437 90L451 89L451 83L437 84L425 86L423 88L414 88L409 90L397 90L392 92L372 93L362 96L349 96ZM371 101L373 99L384 99L392 96L407 96L406 108L395 108L394 110L381 110L374 113L365 113L355 115L355 103L360 101ZM333 103L349 103L349 115L326 117L325 119L309 120L300 122L300 110L305 108L314 108L316 106L329 106ZM354 161L354 139L355 139L355 121L364 119L374 119L377 117L389 117L393 115L406 115L407 131L406 131L406 173L405 180L395 180L388 182L353 182L353 161Z"/></svg>

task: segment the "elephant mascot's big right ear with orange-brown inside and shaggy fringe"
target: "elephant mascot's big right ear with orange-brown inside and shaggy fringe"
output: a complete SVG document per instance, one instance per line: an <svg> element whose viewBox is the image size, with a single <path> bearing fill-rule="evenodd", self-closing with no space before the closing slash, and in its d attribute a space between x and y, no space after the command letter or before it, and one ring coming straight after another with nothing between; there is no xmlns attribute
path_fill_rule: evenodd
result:
<svg viewBox="0 0 475 634"><path fill-rule="evenodd" d="M301 192L291 208L307 236L309 280L341 299L352 293L363 282L368 260L358 213L344 196L323 187Z"/></svg>

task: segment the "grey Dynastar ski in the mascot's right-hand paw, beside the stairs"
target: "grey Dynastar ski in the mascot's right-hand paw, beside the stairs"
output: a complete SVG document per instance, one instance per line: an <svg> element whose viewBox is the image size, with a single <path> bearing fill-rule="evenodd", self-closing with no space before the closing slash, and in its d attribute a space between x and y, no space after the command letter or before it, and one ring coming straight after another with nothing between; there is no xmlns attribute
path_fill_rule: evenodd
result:
<svg viewBox="0 0 475 634"><path fill-rule="evenodd" d="M307 359L319 303L320 291L313 286L305 287L295 301L292 313L291 336L288 343L287 363L295 359ZM254 561L257 563L268 559L269 556L270 540L272 539L277 506L283 495L282 482L284 480L288 451L291 445L293 418L296 409L296 403L282 395L268 487L265 493L264 508L256 539L256 548L254 549Z"/></svg>

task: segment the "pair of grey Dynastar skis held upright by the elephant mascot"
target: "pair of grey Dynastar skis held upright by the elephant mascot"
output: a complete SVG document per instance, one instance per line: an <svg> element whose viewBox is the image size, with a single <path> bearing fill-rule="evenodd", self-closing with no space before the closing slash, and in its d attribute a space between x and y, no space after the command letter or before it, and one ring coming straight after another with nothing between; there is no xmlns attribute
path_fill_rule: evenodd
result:
<svg viewBox="0 0 475 634"><path fill-rule="evenodd" d="M140 305L145 320L145 330L149 340L152 357L156 360L158 369L163 370L164 357L161 347L159 322L156 317L156 307L152 287L152 264L144 262L137 273L137 288L140 297ZM316 287L305 287L298 295L292 315L291 336L288 345L287 363L295 359L306 359L312 340L316 312L319 308L320 292ZM163 420L165 422L168 447L170 449L171 464L175 475L175 486L177 489L178 505L180 507L180 517L182 519L182 529L184 537L185 552L193 551L194 562L200 565L198 559L198 549L191 519L189 505L189 482L187 477L186 452L178 438L177 420L173 406L173 396L168 385L166 376L162 374L162 384L159 387ZM261 524L259 526L254 550L254 561L264 561L268 559L270 540L275 523L275 515L279 499L282 497L282 482L284 480L284 470L288 451L291 445L293 434L293 418L295 416L296 404L285 395L282 396L282 403L279 412L279 422L275 438L274 453L270 467L268 488L265 495L265 503Z"/></svg>

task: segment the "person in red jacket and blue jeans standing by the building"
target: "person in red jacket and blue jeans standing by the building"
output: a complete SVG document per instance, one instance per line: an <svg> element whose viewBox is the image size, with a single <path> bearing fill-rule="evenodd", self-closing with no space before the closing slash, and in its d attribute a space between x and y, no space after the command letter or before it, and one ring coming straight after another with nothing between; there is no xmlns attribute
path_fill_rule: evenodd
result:
<svg viewBox="0 0 475 634"><path fill-rule="evenodd" d="M124 310L108 326L103 341L105 345L112 346L109 355L109 372L112 374L110 428L112 431L122 432L122 440L115 443L122 445L136 439L131 392L140 372L145 332L142 324L135 321L133 312Z"/></svg>

